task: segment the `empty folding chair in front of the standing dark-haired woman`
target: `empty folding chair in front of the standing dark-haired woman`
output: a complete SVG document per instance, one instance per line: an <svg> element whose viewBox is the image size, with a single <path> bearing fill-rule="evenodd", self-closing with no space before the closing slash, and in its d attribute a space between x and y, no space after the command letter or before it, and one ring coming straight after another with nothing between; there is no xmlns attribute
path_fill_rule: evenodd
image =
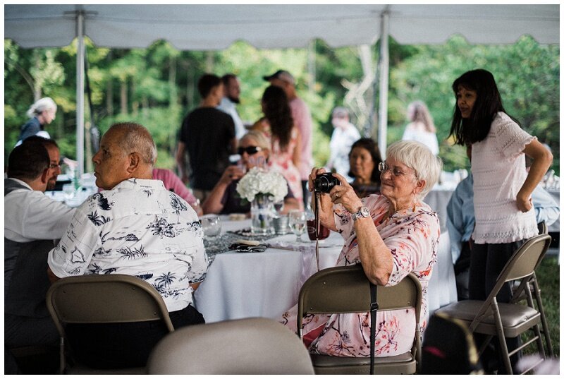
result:
<svg viewBox="0 0 564 379"><path fill-rule="evenodd" d="M469 325L470 332L477 332L488 335L479 354L484 352L486 345L492 337L499 339L501 352L503 354L503 363L508 373L513 373L511 369L510 356L517 354L518 351L525 348L533 342L537 342L537 348L541 354L541 359L527 368L524 373L532 370L539 363L544 361L544 347L542 344L539 323L542 323L541 313L534 308L532 297L530 296L529 282L534 277L534 270L541 263L548 246L551 243L551 236L541 234L527 240L520 248L513 253L512 257L505 264L503 270L498 276L494 289L491 290L485 301L464 300L458 303L452 303L444 308L440 308L439 312L444 313L452 318L458 318ZM520 291L523 289L528 291L527 306L518 303L498 303L496 296L506 282L521 279ZM538 284L535 281L535 287ZM515 294L514 300L519 296ZM540 299L540 296L539 296ZM505 344L505 337L517 337L523 332L532 329L534 337L529 339L525 344L513 351L508 351ZM544 326L544 333L549 344L548 327ZM552 349L552 347L550 347Z"/></svg>

